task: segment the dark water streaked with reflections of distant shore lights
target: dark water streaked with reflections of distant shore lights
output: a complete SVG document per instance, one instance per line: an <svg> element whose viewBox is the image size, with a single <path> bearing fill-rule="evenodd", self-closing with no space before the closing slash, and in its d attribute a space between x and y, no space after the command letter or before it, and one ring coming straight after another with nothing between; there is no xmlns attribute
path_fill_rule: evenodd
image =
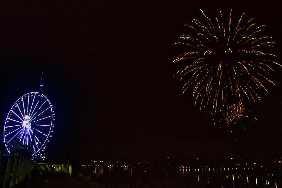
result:
<svg viewBox="0 0 282 188"><path fill-rule="evenodd" d="M94 180L111 187L222 187L226 175L236 187L282 187L281 177L265 172L239 172L230 168L206 167L105 167L83 166ZM208 182L208 183L207 183Z"/></svg>

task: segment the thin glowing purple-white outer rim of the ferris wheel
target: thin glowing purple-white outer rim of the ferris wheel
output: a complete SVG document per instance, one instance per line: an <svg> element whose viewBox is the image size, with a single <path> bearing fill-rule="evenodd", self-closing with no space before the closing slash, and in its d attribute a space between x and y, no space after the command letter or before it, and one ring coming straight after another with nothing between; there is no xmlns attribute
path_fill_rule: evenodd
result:
<svg viewBox="0 0 282 188"><path fill-rule="evenodd" d="M44 95L44 94L42 94L42 93L39 93L39 92L37 92L37 91L34 91L34 92L29 92L29 93L26 93L26 94L24 94L23 96L21 96L21 97L19 97L17 100L16 100L16 102L12 105L12 107L10 108L10 110L9 110L9 112L8 112L8 114L7 114L7 117L6 117L6 120L5 120L5 123L4 123L4 128L3 128L3 141L4 141L4 143L6 143L5 142L5 127L6 127L6 124L7 124L7 119L8 119L8 117L9 117L9 114L11 113L11 111L12 111L12 109L13 109L13 107L15 107L15 104L21 99L21 98L23 98L24 96L26 96L26 95L28 95L28 94L31 94L31 93L36 93L36 94L40 94L40 95L42 95L45 99L46 99L46 101L48 101L48 103L49 103L49 105L50 105L50 111L51 111L51 124L50 124L50 129L49 129L49 132L48 132L48 135L47 135L47 137L46 137L46 139L45 139L45 141L44 141L44 143L42 144L42 146L39 148L39 150L38 151L36 151L36 152L34 152L34 154L32 154L31 156L34 156L36 153L38 153L40 150L41 150L41 148L42 147L45 147L45 143L46 143L46 141L49 139L49 137L50 137L50 132L51 132L51 130L52 130L52 127L54 127L54 123L53 123L53 107L52 107L52 105L51 105L51 102L49 101L49 99ZM8 144L8 143L7 143Z"/></svg>

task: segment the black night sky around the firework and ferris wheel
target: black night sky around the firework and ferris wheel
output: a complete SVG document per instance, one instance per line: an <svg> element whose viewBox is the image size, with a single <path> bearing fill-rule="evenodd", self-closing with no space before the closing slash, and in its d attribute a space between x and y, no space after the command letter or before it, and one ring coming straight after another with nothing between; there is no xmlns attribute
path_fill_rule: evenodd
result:
<svg viewBox="0 0 282 188"><path fill-rule="evenodd" d="M93 1L0 4L1 116L27 92L55 107L50 158L220 159L281 148L281 69L253 108L259 131L233 135L194 107L173 78L184 24L246 12L266 25L281 56L279 1ZM281 62L281 59L279 59ZM240 137L240 142L235 142ZM280 146L280 147L279 147Z"/></svg>

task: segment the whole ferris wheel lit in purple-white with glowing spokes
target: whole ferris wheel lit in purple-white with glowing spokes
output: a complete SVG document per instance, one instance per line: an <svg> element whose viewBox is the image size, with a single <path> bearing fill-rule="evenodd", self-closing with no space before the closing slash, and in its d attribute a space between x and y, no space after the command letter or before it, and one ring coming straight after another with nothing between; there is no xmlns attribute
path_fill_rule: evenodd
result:
<svg viewBox="0 0 282 188"><path fill-rule="evenodd" d="M44 151L52 137L55 115L49 99L39 92L20 97L10 109L3 130L8 146L18 143L25 146L31 156Z"/></svg>

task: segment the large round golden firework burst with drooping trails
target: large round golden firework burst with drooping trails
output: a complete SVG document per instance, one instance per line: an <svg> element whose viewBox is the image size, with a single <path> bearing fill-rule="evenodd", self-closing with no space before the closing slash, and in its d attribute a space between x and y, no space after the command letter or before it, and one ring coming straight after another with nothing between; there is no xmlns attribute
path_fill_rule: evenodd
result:
<svg viewBox="0 0 282 188"><path fill-rule="evenodd" d="M205 21L194 19L189 34L182 35L180 42L185 53L174 63L180 64L180 80L185 80L183 93L192 88L195 105L200 110L210 106L212 113L219 109L228 110L230 104L239 106L260 99L259 91L268 92L277 56L271 53L275 42L264 36L264 25L257 25L254 19L244 21L243 15L233 21L232 10L229 19L212 22L201 10Z"/></svg>

